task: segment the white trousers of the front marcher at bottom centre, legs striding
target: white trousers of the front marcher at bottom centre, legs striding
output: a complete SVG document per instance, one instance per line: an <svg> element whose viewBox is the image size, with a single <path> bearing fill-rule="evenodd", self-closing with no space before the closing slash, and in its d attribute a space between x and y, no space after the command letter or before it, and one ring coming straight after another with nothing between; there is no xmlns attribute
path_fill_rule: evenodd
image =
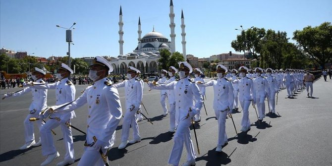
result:
<svg viewBox="0 0 332 166"><path fill-rule="evenodd" d="M187 161L191 161L196 159L196 154L194 150L194 145L191 141L190 137L190 129L189 126L191 125L191 118L188 117L179 121L177 126L175 135L174 135L174 145L173 149L170 152L168 164L172 164L175 166L179 165L181 154L183 150L183 144L187 150Z"/></svg>

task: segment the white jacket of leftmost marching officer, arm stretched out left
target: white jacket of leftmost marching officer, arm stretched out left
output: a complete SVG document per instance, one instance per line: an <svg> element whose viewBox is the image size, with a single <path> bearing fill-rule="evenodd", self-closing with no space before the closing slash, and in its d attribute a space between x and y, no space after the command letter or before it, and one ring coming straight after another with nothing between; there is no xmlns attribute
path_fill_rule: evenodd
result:
<svg viewBox="0 0 332 166"><path fill-rule="evenodd" d="M42 79L37 80L36 82L45 83ZM12 96L21 96L28 92L32 93L32 102L29 107L29 111L42 111L47 108L47 89L36 89L33 87L24 88L23 91L14 93Z"/></svg>

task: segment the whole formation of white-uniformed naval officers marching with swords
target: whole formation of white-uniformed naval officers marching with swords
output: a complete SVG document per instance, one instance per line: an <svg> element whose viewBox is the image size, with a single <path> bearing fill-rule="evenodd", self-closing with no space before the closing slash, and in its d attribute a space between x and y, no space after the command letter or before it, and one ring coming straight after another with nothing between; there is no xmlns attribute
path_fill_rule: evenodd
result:
<svg viewBox="0 0 332 166"><path fill-rule="evenodd" d="M32 92L30 113L24 120L25 144L19 149L27 149L31 146L42 146L42 154L46 160L41 166L50 165L60 154L56 151L52 133L53 129L61 126L63 142L66 153L62 162L56 166L65 166L75 162L73 139L71 128L86 135L85 149L78 166L108 166L107 158L109 148L114 145L115 131L121 117L122 135L118 149L126 148L127 144L141 141L137 121L143 120L143 116L152 123L141 111L143 87L146 82L150 90L160 90L160 103L162 115L169 113L169 132L174 133L173 147L169 154L168 165L178 166L183 147L186 148L186 160L182 166L196 165L196 152L190 134L190 126L195 133L195 142L198 154L200 154L196 129L194 123L201 121L201 110L205 104L206 87L212 86L214 90L213 109L218 123L218 140L216 151L222 152L222 147L228 143L225 131L226 118L229 116L233 122L235 132L237 130L232 118L232 113L238 112L239 104L242 109L240 131L250 130L249 107L252 105L256 111L258 123L263 121L266 113L275 114L278 100L278 92L287 89L287 98L294 99L294 95L300 90L306 89L307 96L313 98L313 81L316 77L309 71L297 69L272 68L248 69L241 66L238 70L228 70L225 66L217 65L217 78L205 82L201 77L203 72L199 68L193 69L187 62L180 62L178 67L170 66L161 71L159 81L149 82L139 78L140 71L129 66L127 79L112 83L107 76L112 72L111 63L101 56L96 56L90 65L89 78L94 84L88 86L80 97L75 99L75 86L68 80L73 70L65 64L58 69L57 82L47 84L42 78L46 74L43 70L35 68L32 77L35 82L24 84L24 89L5 94L2 99L16 97ZM191 78L193 72L194 78ZM175 78L178 74L179 79ZM169 78L167 79L167 75ZM125 90L125 112L122 113L120 96L117 88ZM55 106L47 107L47 90L55 89ZM149 90L149 91L150 91ZM310 90L310 91L309 91ZM166 107L166 98L169 109ZM266 109L266 102L268 108ZM87 128L86 133L71 125L70 119L75 117L77 108L87 104ZM207 114L207 111L205 109ZM78 113L78 112L77 112ZM45 121L44 119L49 118ZM36 143L34 137L33 121L36 121L40 130L40 138ZM153 123L152 123L153 124ZM133 130L132 139L129 140L130 126Z"/></svg>

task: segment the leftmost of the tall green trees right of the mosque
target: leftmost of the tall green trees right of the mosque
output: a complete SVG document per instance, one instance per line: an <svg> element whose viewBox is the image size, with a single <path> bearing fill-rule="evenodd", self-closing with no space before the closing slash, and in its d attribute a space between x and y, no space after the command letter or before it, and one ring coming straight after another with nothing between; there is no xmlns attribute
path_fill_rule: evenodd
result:
<svg viewBox="0 0 332 166"><path fill-rule="evenodd" d="M247 51L250 52L254 58L261 50L260 41L265 36L264 28L250 28L242 31L240 35L236 36L236 40L231 42L232 48L236 52Z"/></svg>

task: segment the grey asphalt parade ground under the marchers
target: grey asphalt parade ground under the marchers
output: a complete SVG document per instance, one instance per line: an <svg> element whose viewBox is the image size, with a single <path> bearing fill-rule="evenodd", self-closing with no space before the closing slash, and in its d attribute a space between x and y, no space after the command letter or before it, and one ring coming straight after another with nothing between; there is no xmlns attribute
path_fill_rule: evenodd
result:
<svg viewBox="0 0 332 166"><path fill-rule="evenodd" d="M209 80L209 79L207 79ZM167 166L168 157L173 146L173 133L168 132L169 114L163 113L160 104L160 91L149 91L144 84L143 113L153 124L143 120L139 123L142 141L128 144L118 150L120 144L122 120L116 129L116 142L109 152L110 166ZM205 106L201 110L202 120L195 124L200 154L194 131L191 137L196 150L196 166L332 166L332 80L323 77L314 84L314 98L307 98L306 90L296 94L295 99L286 98L286 90L278 94L277 115L267 115L258 123L255 110L249 108L251 130L241 132L242 112L233 114L236 135L230 118L226 119L228 144L217 153L218 123L213 110L213 88L207 87ZM87 85L76 85L76 98ZM6 92L15 92L20 88L0 90L1 98ZM124 89L118 89L122 110L125 110ZM42 147L30 147L18 150L24 141L23 121L29 113L31 93L16 98L0 100L0 166L40 166L46 159L42 156ZM55 105L55 90L48 91L48 106ZM268 113L267 102L266 113ZM167 104L168 105L168 104ZM168 106L167 106L168 107ZM86 131L87 105L75 110L76 118L71 120L73 126ZM47 119L46 119L47 120ZM54 129L55 147L60 157L50 166L63 160L65 154L60 127ZM77 166L83 154L85 135L72 128L75 163ZM132 130L131 130L132 133ZM129 139L132 139L130 133ZM38 141L39 130L35 124L35 138ZM186 162L186 150L183 149L180 165Z"/></svg>

